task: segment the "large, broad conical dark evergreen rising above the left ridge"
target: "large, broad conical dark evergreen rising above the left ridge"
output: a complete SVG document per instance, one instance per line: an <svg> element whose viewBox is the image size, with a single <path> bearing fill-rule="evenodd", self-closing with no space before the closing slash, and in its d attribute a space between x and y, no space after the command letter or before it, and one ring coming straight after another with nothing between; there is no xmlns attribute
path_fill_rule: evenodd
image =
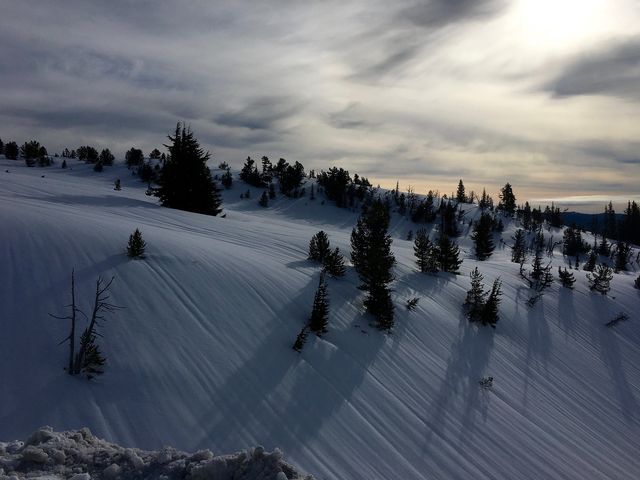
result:
<svg viewBox="0 0 640 480"><path fill-rule="evenodd" d="M220 193L207 167L209 152L204 152L193 132L178 123L175 135L169 135L167 158L158 183L162 206L188 212L218 215Z"/></svg>

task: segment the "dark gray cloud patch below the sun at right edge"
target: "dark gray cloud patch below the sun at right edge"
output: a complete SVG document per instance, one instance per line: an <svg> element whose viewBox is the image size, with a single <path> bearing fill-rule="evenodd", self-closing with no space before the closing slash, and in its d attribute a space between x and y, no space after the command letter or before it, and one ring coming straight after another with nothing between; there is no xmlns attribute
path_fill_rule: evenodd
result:
<svg viewBox="0 0 640 480"><path fill-rule="evenodd" d="M575 58L544 85L557 97L607 95L640 100L640 36Z"/></svg>

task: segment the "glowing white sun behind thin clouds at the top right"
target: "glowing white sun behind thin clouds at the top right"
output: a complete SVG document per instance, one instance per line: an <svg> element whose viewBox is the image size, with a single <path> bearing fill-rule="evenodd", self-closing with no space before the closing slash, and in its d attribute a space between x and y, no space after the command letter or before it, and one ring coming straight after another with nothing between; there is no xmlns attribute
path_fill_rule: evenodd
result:
<svg viewBox="0 0 640 480"><path fill-rule="evenodd" d="M606 33L609 5L607 0L521 0L514 13L527 43L565 48Z"/></svg>

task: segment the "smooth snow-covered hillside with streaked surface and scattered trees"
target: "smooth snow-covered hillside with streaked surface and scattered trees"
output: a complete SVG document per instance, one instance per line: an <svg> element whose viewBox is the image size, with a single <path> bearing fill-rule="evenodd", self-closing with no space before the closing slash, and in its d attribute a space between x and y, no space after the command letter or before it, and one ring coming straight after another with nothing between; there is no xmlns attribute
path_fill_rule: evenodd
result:
<svg viewBox="0 0 640 480"><path fill-rule="evenodd" d="M261 444L320 479L640 478L637 272L604 297L577 271L574 291L556 283L529 308L508 248L477 262L465 230L462 274L423 275L402 240L416 227L396 217L393 334L369 326L350 268L329 282L329 333L297 354L319 277L309 239L323 229L347 253L356 212L308 197L262 209L234 185L227 217L207 217L159 207L120 166L72 163L0 161L0 439L51 425L143 449ZM144 260L125 254L135 228ZM503 280L495 330L462 314L476 265ZM63 371L68 325L48 316L66 314L72 268L81 308L99 275L125 307L91 382Z"/></svg>

